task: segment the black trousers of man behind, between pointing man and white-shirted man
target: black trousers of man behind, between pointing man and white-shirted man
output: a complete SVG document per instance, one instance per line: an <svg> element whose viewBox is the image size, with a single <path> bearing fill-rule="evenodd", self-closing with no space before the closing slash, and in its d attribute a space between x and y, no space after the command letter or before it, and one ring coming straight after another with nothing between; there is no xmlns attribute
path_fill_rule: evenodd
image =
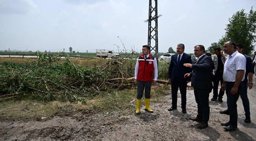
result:
<svg viewBox="0 0 256 141"><path fill-rule="evenodd" d="M216 71L214 76L213 76L213 98L219 99L223 98L224 92L222 90L219 90L218 94L218 87L219 87L219 81L221 81L221 85L223 83L223 72L221 71Z"/></svg>

